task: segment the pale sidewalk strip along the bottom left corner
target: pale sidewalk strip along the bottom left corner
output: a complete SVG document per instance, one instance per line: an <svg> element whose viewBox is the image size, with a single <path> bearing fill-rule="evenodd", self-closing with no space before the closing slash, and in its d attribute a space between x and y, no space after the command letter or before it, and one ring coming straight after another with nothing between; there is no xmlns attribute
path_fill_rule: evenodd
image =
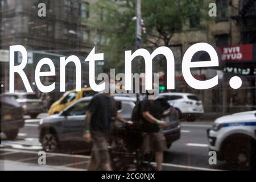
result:
<svg viewBox="0 0 256 182"><path fill-rule="evenodd" d="M31 163L14 162L11 160L0 160L0 171L85 171L83 169L64 167L36 165Z"/></svg>

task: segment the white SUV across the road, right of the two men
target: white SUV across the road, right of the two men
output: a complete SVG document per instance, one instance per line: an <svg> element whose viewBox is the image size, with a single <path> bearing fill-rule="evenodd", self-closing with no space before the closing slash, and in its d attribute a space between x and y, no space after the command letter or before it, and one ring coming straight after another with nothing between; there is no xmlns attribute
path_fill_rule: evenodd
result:
<svg viewBox="0 0 256 182"><path fill-rule="evenodd" d="M160 93L159 96L165 97L187 121L195 121L204 113L203 104L195 94L167 92Z"/></svg>

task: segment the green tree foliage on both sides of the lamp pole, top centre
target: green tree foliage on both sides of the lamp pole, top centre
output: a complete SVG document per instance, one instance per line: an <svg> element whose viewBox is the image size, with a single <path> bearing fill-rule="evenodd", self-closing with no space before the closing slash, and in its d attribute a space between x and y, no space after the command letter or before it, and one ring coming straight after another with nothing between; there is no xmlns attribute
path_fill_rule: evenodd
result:
<svg viewBox="0 0 256 182"><path fill-rule="evenodd" d="M90 11L90 28L107 40L98 45L105 52L106 66L122 71L124 51L135 49L136 0L99 0ZM142 47L170 47L176 32L204 31L209 20L204 0L142 0L141 11L146 23Z"/></svg>

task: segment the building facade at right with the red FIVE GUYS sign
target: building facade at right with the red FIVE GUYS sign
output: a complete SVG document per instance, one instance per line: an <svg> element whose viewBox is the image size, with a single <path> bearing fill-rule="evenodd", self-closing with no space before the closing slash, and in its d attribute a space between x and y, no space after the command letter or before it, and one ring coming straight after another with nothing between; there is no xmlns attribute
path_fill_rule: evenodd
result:
<svg viewBox="0 0 256 182"><path fill-rule="evenodd" d="M210 1L212 2L212 1ZM191 69L192 75L205 80L219 75L219 84L208 90L192 89L184 81L181 73L180 57L175 55L175 92L192 92L200 96L204 101L206 112L233 113L234 111L254 109L255 100L255 43L256 43L256 5L255 0L216 0L217 17L212 18L207 23L206 30L197 28L197 24L203 24L203 21L197 19L197 23L193 23L195 19L189 21L189 28L183 27L189 31L176 32L171 39L176 49L172 49L174 55L181 55L195 43L206 42L216 47L220 52L220 65L218 69ZM250 50L243 44L250 44ZM221 54L221 49L235 46L240 48L241 52L231 52L230 60ZM177 49L179 47L179 49ZM218 48L220 49L218 49ZM243 54L243 59L239 59ZM226 55L227 56L227 55ZM237 56L237 57L236 57ZM207 60L205 53L195 55L192 61ZM233 59L233 60L232 60ZM159 71L164 71L164 67ZM249 71L250 70L250 71ZM250 72L250 73L249 73ZM233 90L229 86L229 79L232 76L240 76L243 80L242 88ZM253 99L251 99L253 98Z"/></svg>

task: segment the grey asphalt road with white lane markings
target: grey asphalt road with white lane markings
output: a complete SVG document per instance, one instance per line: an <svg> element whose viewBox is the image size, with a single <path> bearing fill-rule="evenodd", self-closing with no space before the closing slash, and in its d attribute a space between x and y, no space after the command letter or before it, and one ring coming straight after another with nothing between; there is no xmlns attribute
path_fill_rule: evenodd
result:
<svg viewBox="0 0 256 182"><path fill-rule="evenodd" d="M39 115L44 117L44 114ZM0 169L4 170L85 170L89 152L80 147L67 147L60 153L49 153L46 165L38 164L38 151L42 146L38 141L38 119L27 117L18 138L6 140L1 134ZM181 122L181 138L172 144L164 154L164 170L216 170L230 169L224 162L209 165L208 140L206 130L212 122ZM71 150L72 148L72 150Z"/></svg>

